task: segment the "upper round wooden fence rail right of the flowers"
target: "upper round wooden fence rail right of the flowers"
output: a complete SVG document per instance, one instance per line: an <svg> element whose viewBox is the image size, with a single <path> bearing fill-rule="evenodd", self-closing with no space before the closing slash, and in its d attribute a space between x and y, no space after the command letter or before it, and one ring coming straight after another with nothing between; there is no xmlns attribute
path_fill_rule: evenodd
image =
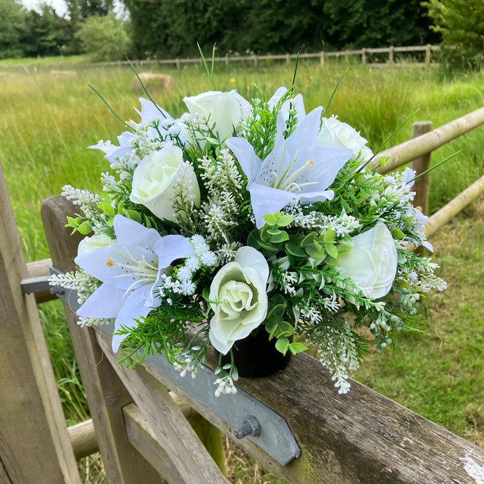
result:
<svg viewBox="0 0 484 484"><path fill-rule="evenodd" d="M412 140L405 141L389 149L385 149L375 156L370 163L370 168L378 166L380 156L390 156L386 166L378 168L378 173L388 173L399 166L405 165L419 156L432 152L460 135L469 133L470 130L484 124L484 107L480 107L465 116L454 119L429 133L425 133Z"/></svg>

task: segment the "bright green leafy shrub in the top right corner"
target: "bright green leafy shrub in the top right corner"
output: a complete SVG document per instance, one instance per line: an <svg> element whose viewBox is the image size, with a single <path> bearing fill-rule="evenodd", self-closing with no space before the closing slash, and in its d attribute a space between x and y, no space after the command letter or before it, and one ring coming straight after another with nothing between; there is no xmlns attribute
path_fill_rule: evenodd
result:
<svg viewBox="0 0 484 484"><path fill-rule="evenodd" d="M429 0L431 29L442 35L442 55L450 72L478 71L484 63L484 2L482 0Z"/></svg>

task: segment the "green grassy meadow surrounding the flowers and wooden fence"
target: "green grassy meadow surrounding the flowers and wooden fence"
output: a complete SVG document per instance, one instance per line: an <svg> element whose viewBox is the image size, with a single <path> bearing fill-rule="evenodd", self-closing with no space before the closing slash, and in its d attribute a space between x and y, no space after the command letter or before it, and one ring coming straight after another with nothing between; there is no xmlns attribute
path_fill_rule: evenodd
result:
<svg viewBox="0 0 484 484"><path fill-rule="evenodd" d="M347 64L300 62L296 91L306 110L325 105ZM100 191L107 170L102 153L86 147L112 140L121 123L95 95L95 87L121 119L137 119L133 72L126 67L88 67L69 62L75 77L54 77L40 65L0 64L0 161L13 203L27 261L48 257L40 206L62 186ZM161 72L160 69L151 69ZM184 112L182 98L209 90L199 65L163 68L176 90L152 90L156 102L174 117ZM251 98L256 87L270 95L293 79L293 66L216 65L217 90L236 88ZM411 65L398 69L363 69L355 65L344 77L329 114L337 114L376 150L389 133L419 111L391 138L388 146L411 137L412 121L430 119L441 126L484 105L484 74L446 80L436 69ZM459 137L432 154L433 163L459 149L464 152L431 173L433 213L483 174L484 128ZM440 276L448 290L422 302L428 316L423 332L398 335L396 349L371 354L353 376L376 391L484 446L484 200L476 201L433 236ZM60 395L69 424L88 418L88 408L72 354L62 307L39 307ZM243 467L243 465L242 465ZM248 482L255 482L248 480Z"/></svg>

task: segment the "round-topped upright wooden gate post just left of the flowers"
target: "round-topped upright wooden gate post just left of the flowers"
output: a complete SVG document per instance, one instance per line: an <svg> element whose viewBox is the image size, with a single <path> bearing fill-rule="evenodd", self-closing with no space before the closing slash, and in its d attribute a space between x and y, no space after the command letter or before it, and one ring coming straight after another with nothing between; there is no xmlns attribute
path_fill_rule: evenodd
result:
<svg viewBox="0 0 484 484"><path fill-rule="evenodd" d="M73 259L81 238L78 234L70 236L70 230L64 227L66 215L76 210L79 208L62 196L46 200L41 208L53 264L64 272L74 269ZM128 441L122 408L133 398L102 354L95 332L88 328L81 330L74 311L69 304L64 306L109 483L132 484L139 482L140 476L144 483L161 483L159 473Z"/></svg>

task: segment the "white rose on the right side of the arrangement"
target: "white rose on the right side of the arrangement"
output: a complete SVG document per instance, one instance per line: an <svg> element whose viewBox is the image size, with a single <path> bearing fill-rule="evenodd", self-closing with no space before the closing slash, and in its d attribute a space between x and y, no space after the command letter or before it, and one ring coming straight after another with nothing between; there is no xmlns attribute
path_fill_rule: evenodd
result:
<svg viewBox="0 0 484 484"><path fill-rule="evenodd" d="M382 222L353 237L353 247L340 257L340 274L351 278L365 297L383 297L391 289L396 274L394 238Z"/></svg>

